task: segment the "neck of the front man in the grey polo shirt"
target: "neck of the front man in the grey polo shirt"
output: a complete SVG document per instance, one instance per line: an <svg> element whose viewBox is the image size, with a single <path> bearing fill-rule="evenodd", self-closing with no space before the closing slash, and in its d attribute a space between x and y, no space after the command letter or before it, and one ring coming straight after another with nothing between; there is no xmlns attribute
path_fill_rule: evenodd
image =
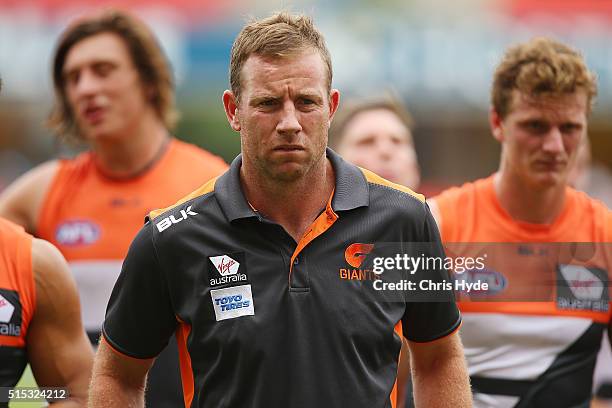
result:
<svg viewBox="0 0 612 408"><path fill-rule="evenodd" d="M243 167L240 179L249 203L266 218L283 226L296 242L325 209L334 186L334 170L325 157L300 180L270 181L253 169Z"/></svg>

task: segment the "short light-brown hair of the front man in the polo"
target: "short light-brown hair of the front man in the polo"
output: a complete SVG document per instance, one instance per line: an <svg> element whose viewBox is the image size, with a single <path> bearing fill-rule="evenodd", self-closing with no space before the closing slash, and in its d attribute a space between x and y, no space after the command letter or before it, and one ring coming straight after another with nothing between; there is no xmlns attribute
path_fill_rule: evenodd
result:
<svg viewBox="0 0 612 408"><path fill-rule="evenodd" d="M321 55L327 68L327 88L331 90L331 56L312 18L281 12L250 21L232 45L229 72L232 93L240 99L242 68L251 55L283 58L309 48Z"/></svg>

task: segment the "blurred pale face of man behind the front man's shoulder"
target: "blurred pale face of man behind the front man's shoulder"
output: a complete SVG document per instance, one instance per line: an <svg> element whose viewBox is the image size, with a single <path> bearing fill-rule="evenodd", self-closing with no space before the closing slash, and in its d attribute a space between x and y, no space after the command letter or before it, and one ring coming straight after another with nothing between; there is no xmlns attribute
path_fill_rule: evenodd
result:
<svg viewBox="0 0 612 408"><path fill-rule="evenodd" d="M417 188L417 155L410 129L388 109L357 113L344 128L338 153L394 183Z"/></svg>

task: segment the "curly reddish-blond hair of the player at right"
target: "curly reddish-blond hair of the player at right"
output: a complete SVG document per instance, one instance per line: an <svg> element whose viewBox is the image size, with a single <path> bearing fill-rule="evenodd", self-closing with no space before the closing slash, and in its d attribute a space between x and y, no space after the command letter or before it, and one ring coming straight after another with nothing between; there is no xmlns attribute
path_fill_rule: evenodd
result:
<svg viewBox="0 0 612 408"><path fill-rule="evenodd" d="M578 51L540 37L509 48L495 70L491 103L502 118L510 113L514 90L532 97L584 91L590 112L597 82Z"/></svg>

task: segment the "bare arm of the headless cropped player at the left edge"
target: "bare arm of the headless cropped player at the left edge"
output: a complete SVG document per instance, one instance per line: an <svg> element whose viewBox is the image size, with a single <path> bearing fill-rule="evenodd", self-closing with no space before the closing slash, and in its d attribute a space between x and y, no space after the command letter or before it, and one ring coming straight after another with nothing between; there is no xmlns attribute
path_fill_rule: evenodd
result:
<svg viewBox="0 0 612 408"><path fill-rule="evenodd" d="M76 284L60 252L40 239L32 241L36 309L28 328L28 359L41 387L66 387L69 398L54 407L87 402L93 351L81 323Z"/></svg>

